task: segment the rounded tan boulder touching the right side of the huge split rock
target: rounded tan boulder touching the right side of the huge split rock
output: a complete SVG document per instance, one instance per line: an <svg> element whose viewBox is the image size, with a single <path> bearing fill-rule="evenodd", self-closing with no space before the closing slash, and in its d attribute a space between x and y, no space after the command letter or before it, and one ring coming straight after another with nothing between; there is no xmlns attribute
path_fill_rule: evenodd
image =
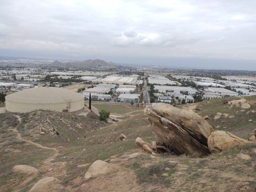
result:
<svg viewBox="0 0 256 192"><path fill-rule="evenodd" d="M208 148L212 153L221 152L225 149L251 143L230 132L214 131L208 138Z"/></svg>

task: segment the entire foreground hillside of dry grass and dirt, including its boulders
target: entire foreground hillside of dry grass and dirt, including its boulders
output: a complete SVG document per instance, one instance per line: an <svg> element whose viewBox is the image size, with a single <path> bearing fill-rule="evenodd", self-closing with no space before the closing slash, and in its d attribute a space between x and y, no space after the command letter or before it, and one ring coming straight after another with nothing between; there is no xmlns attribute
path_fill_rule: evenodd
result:
<svg viewBox="0 0 256 192"><path fill-rule="evenodd" d="M1 190L255 191L256 96L144 109L0 114Z"/></svg>

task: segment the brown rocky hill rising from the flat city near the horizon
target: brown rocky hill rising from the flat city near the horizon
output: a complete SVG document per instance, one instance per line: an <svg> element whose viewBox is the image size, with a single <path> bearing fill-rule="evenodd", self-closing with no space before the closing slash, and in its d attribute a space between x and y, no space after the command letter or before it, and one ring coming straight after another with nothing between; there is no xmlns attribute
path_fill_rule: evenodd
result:
<svg viewBox="0 0 256 192"><path fill-rule="evenodd" d="M118 64L113 63L113 62L106 62L100 59L95 59L95 60L85 60L82 62L66 62L66 63L62 63L60 61L53 61L50 65L52 66L72 66L72 67L79 67L79 68L83 68L83 67L97 67L97 66L109 66L109 67L116 67L118 66Z"/></svg>

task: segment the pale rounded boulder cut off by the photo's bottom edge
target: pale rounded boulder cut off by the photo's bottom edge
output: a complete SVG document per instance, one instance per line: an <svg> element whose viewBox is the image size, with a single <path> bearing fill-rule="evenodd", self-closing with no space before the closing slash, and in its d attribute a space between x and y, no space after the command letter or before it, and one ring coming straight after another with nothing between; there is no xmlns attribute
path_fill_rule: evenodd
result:
<svg viewBox="0 0 256 192"><path fill-rule="evenodd" d="M54 177L45 177L36 182L29 192L62 192L65 191L60 181Z"/></svg>

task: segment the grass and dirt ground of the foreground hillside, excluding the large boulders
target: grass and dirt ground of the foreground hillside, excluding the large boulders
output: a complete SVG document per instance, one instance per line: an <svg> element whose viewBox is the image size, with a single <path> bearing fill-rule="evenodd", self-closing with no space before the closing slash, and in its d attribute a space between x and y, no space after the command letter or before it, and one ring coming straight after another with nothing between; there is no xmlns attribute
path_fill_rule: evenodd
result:
<svg viewBox="0 0 256 192"><path fill-rule="evenodd" d="M207 122L215 130L226 130L248 139L255 129L256 113L246 113L256 108L256 97L245 99L251 108L244 111L225 107L227 104L223 101L234 98L178 107L201 108L196 113L209 116ZM214 120L217 112L235 117ZM146 153L135 144L137 137L148 142L155 140L146 113L139 111L115 124L106 124L89 116L51 111L0 114L3 122L0 188L28 191L44 177L60 180L63 188L59 191L254 191L256 188L255 144L209 156L145 154L132 158L129 155L133 153ZM41 134L42 128L47 132ZM58 134L49 131L52 128ZM128 139L120 140L121 133ZM108 162L109 172L85 180L84 174L96 160ZM13 172L12 167L20 164L35 167L39 174Z"/></svg>

